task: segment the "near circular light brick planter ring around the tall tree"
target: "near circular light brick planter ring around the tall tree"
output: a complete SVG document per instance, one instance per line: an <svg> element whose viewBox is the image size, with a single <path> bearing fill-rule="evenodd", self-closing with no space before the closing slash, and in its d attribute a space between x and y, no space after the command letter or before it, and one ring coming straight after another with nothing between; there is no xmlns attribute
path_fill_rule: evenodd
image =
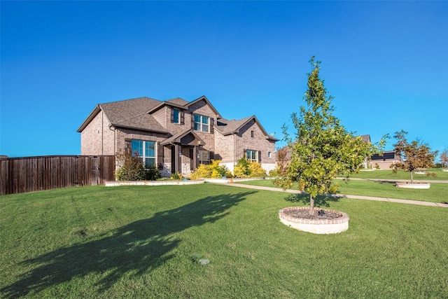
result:
<svg viewBox="0 0 448 299"><path fill-rule="evenodd" d="M283 224L302 230L304 232L312 232L314 234L337 234L349 229L349 216L340 211L332 211L323 209L325 212L339 214L340 217L333 219L306 219L288 215L288 211L295 209L309 209L309 207L287 207L279 210L280 221Z"/></svg>

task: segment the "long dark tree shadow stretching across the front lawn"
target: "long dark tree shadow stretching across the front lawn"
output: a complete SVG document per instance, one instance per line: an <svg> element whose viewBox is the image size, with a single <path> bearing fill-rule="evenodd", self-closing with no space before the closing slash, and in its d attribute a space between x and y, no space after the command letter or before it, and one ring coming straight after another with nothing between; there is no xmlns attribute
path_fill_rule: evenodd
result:
<svg viewBox="0 0 448 299"><path fill-rule="evenodd" d="M181 243L173 234L205 223L214 223L230 214L231 207L255 193L209 196L151 218L135 221L104 234L101 239L73 244L23 261L31 268L9 286L0 289L4 298L17 298L38 293L45 288L100 274L97 292L102 293L123 276L140 276L173 257L172 250ZM106 209L106 207L105 207ZM113 209L109 208L113 213ZM79 234L87 236L88 231Z"/></svg>

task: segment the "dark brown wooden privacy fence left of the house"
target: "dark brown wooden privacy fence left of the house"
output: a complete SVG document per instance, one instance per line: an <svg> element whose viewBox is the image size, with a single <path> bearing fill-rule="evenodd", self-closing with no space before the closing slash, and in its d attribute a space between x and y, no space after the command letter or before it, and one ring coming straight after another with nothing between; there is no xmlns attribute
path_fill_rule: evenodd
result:
<svg viewBox="0 0 448 299"><path fill-rule="evenodd" d="M0 195L115 181L113 155L0 159Z"/></svg>

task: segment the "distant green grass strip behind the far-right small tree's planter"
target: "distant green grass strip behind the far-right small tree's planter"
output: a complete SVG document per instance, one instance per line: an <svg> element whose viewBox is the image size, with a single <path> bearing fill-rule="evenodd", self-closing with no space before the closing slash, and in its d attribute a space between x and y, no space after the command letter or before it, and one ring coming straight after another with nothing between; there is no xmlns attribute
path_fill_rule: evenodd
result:
<svg viewBox="0 0 448 299"><path fill-rule="evenodd" d="M440 180L448 181L448 172L442 172L441 168L428 169L429 172L435 173L435 177L426 176L425 174L414 174L414 180ZM392 173L392 170L374 170L374 171L360 171L358 174L351 176L359 179L404 179L411 180L411 174L404 170L398 170L396 174Z"/></svg>

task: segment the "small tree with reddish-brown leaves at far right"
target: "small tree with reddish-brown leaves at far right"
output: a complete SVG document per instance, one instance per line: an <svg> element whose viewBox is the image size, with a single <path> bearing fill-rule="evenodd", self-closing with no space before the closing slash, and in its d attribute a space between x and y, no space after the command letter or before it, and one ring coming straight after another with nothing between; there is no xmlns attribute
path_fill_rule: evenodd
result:
<svg viewBox="0 0 448 299"><path fill-rule="evenodd" d="M403 162L396 162L391 165L393 172L397 172L397 169L405 169L411 174L411 183L414 182L414 171L416 169L425 169L433 167L433 162L437 156L437 151L431 151L428 144L424 144L421 141L411 141L406 139L407 132L401 130L395 132L393 138L397 139L397 143L394 144L394 150L399 155ZM426 175L430 173L427 172ZM434 174L433 174L434 176Z"/></svg>

